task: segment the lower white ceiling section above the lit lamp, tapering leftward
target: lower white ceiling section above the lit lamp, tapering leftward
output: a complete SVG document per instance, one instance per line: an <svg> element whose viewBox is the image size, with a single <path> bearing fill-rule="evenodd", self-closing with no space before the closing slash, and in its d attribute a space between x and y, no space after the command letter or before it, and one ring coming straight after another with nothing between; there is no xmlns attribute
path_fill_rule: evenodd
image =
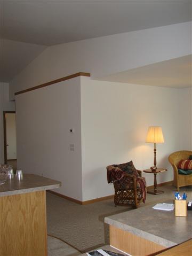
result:
<svg viewBox="0 0 192 256"><path fill-rule="evenodd" d="M187 88L191 86L191 55L111 74L100 80L146 86Z"/></svg>

